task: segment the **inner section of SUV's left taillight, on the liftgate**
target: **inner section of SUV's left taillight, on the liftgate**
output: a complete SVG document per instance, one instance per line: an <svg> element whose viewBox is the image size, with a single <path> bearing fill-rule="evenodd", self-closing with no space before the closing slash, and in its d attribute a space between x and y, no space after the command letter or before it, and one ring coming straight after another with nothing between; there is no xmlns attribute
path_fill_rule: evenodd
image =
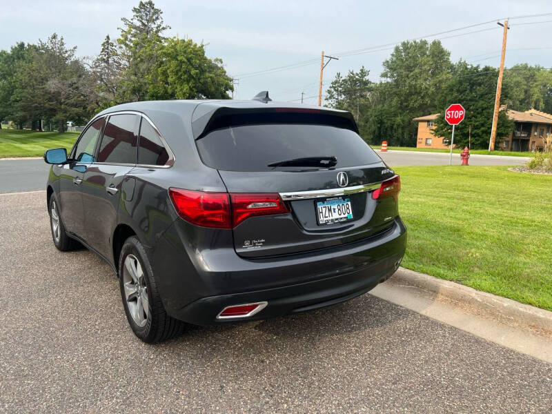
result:
<svg viewBox="0 0 552 414"><path fill-rule="evenodd" d="M230 194L233 227L249 217L289 213L279 194Z"/></svg>

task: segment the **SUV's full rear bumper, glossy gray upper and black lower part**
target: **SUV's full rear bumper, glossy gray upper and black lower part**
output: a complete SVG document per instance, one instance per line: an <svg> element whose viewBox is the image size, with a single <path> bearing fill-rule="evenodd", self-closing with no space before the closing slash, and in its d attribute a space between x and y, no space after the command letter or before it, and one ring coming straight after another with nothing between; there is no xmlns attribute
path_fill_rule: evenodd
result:
<svg viewBox="0 0 552 414"><path fill-rule="evenodd" d="M165 240L176 239L168 235ZM259 313L242 318L255 320L330 306L366 293L397 269L406 249L406 227L395 217L384 235L272 259L244 259L233 249L216 248L194 255L186 247L160 241L158 255L153 255L166 311L191 324L221 324L241 320L216 319L226 306L268 302Z"/></svg>

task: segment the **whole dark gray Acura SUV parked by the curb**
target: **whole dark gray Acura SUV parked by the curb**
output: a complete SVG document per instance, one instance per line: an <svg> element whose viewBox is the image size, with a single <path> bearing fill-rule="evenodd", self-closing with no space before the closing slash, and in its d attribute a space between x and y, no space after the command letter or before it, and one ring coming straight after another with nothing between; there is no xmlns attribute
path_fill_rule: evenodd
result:
<svg viewBox="0 0 552 414"><path fill-rule="evenodd" d="M55 246L112 266L145 342L344 302L404 255L400 178L349 112L268 93L125 103L44 158Z"/></svg>

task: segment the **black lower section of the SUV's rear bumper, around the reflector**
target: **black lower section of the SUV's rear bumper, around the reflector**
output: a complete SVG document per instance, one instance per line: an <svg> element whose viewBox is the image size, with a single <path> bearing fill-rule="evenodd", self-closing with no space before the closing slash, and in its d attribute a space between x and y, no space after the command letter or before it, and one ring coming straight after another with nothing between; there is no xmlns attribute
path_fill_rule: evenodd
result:
<svg viewBox="0 0 552 414"><path fill-rule="evenodd" d="M190 324L210 325L266 319L331 306L362 295L378 283L384 282L395 273L400 259L402 255L389 257L362 270L315 282L203 297L188 304L173 316ZM218 313L226 306L255 302L268 302L268 305L252 317L216 319Z"/></svg>

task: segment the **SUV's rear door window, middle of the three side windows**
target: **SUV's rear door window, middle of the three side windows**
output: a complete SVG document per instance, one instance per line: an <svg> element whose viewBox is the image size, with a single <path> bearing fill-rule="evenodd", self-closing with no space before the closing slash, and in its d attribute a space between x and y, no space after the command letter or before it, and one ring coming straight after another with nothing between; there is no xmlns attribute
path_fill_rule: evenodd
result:
<svg viewBox="0 0 552 414"><path fill-rule="evenodd" d="M109 117L98 152L99 162L136 164L139 115L121 114Z"/></svg>

